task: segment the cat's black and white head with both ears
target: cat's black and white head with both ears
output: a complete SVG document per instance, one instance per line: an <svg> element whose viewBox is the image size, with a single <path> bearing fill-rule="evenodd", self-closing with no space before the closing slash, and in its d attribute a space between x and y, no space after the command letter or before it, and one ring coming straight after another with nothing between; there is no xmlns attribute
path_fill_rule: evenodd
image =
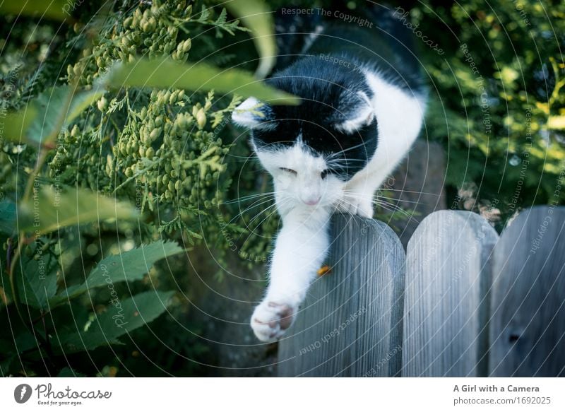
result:
<svg viewBox="0 0 565 412"><path fill-rule="evenodd" d="M373 155L376 119L371 92L359 73L305 71L319 76L296 76L295 70L292 76L282 72L268 80L299 96L301 104L269 105L248 98L232 119L251 129L251 144L277 192L326 206L339 199L345 182Z"/></svg>

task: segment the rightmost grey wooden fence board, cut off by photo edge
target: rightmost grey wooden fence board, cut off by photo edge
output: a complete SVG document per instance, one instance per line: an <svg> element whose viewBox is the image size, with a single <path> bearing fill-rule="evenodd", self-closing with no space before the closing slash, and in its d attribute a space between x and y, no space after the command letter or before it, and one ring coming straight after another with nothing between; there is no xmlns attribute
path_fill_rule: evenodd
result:
<svg viewBox="0 0 565 412"><path fill-rule="evenodd" d="M565 376L565 208L520 213L492 260L489 375Z"/></svg>

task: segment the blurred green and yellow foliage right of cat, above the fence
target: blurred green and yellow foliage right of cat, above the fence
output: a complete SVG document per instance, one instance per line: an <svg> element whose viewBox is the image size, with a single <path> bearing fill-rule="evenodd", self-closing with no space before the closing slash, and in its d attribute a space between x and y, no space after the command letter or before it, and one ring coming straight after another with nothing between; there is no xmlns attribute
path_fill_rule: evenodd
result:
<svg viewBox="0 0 565 412"><path fill-rule="evenodd" d="M499 209L504 223L521 207L565 200L565 5L493 6L431 0L410 20L444 50L421 47L432 90L425 133L447 149L449 204Z"/></svg>

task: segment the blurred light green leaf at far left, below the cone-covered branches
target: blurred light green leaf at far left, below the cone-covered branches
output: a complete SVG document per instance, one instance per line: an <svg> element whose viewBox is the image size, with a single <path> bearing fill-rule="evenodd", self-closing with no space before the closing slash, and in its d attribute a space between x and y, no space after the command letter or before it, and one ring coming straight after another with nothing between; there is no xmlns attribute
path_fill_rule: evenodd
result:
<svg viewBox="0 0 565 412"><path fill-rule="evenodd" d="M108 219L131 220L138 212L131 204L85 189L59 194L52 187L34 189L33 196L19 205L20 230L36 235L69 225L84 225Z"/></svg>

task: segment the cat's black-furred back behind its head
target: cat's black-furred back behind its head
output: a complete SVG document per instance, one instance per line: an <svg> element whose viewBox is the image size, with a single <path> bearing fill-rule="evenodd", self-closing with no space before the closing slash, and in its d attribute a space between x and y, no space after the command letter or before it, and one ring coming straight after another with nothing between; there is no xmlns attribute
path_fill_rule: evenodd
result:
<svg viewBox="0 0 565 412"><path fill-rule="evenodd" d="M279 72L330 81L348 76L357 82L359 74L369 71L410 93L425 88L411 33L386 7L369 7L357 15L326 11L326 16L285 16L277 30Z"/></svg>

